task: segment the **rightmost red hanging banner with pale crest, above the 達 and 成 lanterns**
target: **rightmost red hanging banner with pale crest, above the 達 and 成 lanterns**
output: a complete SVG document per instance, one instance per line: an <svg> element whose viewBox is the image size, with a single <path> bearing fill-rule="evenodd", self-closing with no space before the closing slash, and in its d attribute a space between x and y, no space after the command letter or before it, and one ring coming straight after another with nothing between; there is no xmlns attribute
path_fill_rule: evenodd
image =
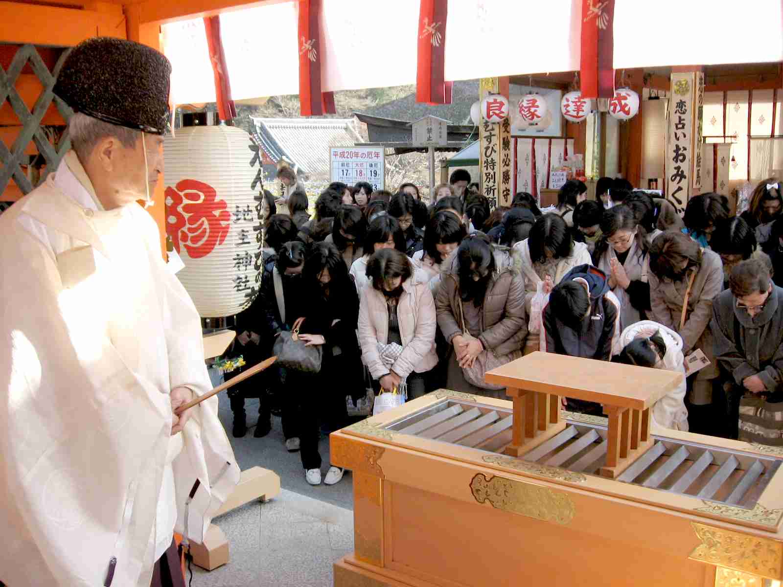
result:
<svg viewBox="0 0 783 587"><path fill-rule="evenodd" d="M582 0L580 90L586 99L612 98L615 0Z"/></svg>

